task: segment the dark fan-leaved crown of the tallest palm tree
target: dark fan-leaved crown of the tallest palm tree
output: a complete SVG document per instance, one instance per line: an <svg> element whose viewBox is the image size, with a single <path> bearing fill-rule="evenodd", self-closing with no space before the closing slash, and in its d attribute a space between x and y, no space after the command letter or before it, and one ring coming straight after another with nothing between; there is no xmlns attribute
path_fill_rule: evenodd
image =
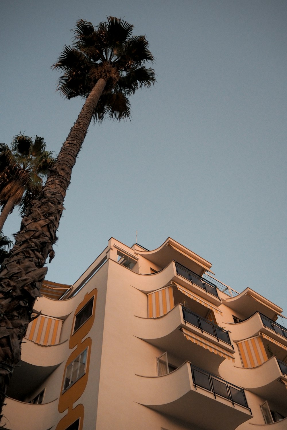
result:
<svg viewBox="0 0 287 430"><path fill-rule="evenodd" d="M145 68L154 57L145 36L133 36L133 25L110 16L95 29L91 22L80 19L74 29L72 46L65 46L53 65L62 70L58 89L70 99L86 98L97 81L106 81L93 117L101 122L105 114L111 119L130 118L127 98L140 87L155 82L154 70Z"/></svg>

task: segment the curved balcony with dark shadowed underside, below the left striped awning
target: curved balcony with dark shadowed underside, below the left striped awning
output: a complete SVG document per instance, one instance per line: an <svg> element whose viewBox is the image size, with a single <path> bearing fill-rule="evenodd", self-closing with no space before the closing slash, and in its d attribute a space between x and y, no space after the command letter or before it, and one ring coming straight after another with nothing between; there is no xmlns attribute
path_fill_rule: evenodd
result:
<svg viewBox="0 0 287 430"><path fill-rule="evenodd" d="M21 360L9 384L9 397L23 399L36 390L65 360L67 348L68 342L47 347L25 340Z"/></svg>

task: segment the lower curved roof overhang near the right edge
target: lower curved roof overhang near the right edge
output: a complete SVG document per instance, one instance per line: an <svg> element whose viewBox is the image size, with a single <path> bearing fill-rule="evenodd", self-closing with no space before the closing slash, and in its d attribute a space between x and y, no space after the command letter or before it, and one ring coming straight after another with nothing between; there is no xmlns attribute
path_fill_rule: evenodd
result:
<svg viewBox="0 0 287 430"><path fill-rule="evenodd" d="M235 310L241 315L253 315L258 311L276 321L281 314L282 308L269 301L267 298L256 293L251 288L246 288L238 296L232 298L222 298L222 302L230 309Z"/></svg>

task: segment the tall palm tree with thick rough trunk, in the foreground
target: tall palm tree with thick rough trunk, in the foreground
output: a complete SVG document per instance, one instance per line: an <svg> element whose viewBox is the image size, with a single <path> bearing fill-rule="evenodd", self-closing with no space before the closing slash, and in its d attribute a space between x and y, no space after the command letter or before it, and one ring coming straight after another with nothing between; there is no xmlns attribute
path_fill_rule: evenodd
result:
<svg viewBox="0 0 287 430"><path fill-rule="evenodd" d="M80 20L72 46L65 46L53 65L63 74L59 90L66 98L86 98L82 110L64 142L40 195L33 200L15 245L0 272L0 402L15 364L20 359L34 301L46 275L46 258L53 257L56 230L71 179L72 168L91 120L130 118L129 95L155 82L146 61L153 61L145 36L133 36L133 25L109 17L95 29ZM9 327L9 330L7 330Z"/></svg>

